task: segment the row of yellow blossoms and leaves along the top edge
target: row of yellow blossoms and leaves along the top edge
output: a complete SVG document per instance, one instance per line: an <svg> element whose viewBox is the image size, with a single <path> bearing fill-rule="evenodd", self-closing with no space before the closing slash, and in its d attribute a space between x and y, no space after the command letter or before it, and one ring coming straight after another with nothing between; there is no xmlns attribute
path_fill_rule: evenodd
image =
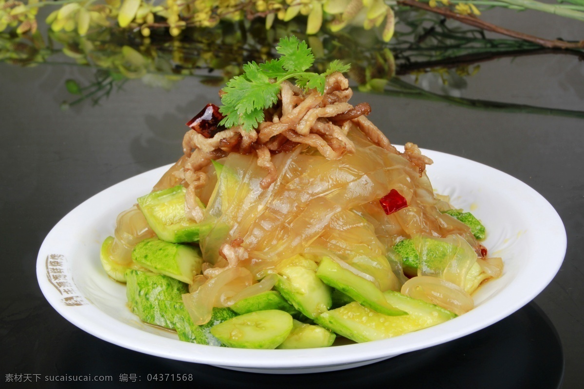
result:
<svg viewBox="0 0 584 389"><path fill-rule="evenodd" d="M35 15L49 0L0 0L0 31L19 26L19 33L36 30ZM70 2L69 2L70 1ZM47 17L53 31L74 31L84 36L92 27L112 26L140 29L148 37L151 29L167 27L172 36L178 36L187 26L214 27L220 20L240 20L243 17L266 18L266 29L276 19L288 22L297 16L307 16L307 34L321 30L326 20L333 31L347 25L362 25L365 29L384 23L383 38L389 41L394 34L395 16L387 0L61 0L65 5ZM448 0L430 0L431 4ZM332 20L331 20L332 19Z"/></svg>

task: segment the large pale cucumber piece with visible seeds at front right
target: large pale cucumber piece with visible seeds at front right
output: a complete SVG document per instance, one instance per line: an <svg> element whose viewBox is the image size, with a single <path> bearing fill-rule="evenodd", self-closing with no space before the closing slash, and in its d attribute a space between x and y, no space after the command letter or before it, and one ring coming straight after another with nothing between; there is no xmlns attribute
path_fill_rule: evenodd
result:
<svg viewBox="0 0 584 389"><path fill-rule="evenodd" d="M433 310L432 304L428 306L430 307L412 309L411 314L406 316L387 316L353 302L325 312L315 321L347 339L362 343L397 337L456 317L453 313L446 314L442 310ZM405 304L402 307L405 307ZM427 309L428 313L422 313L424 309Z"/></svg>

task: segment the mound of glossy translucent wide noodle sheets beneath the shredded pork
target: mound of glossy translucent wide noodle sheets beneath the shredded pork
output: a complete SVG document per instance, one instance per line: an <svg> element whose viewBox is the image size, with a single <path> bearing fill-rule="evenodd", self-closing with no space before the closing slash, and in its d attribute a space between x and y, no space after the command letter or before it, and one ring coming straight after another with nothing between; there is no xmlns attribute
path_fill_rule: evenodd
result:
<svg viewBox="0 0 584 389"><path fill-rule="evenodd" d="M468 228L450 216L443 218L430 181L411 162L359 132L349 137L356 152L337 160L305 146L273 155L277 179L267 190L259 186L266 170L258 166L257 157L230 153L221 161L224 166L206 208L203 222L213 228L200 240L204 260L225 267L220 248L237 239L249 254L238 267L259 280L287 258L322 250L371 276L382 290L399 290L405 279L391 247L415 234L423 258L420 275L464 286L477 259L465 241ZM379 199L392 189L406 198L408 207L385 215ZM440 240L444 232L453 231L464 238ZM430 241L448 247L442 250L446 257L432 257L426 250ZM209 298L218 301L217 296Z"/></svg>

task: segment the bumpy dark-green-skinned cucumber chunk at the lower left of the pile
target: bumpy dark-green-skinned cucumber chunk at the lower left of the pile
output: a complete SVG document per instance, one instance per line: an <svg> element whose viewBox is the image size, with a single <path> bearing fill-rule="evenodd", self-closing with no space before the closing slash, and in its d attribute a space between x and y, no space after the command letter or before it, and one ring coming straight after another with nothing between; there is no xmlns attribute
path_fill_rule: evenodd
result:
<svg viewBox="0 0 584 389"><path fill-rule="evenodd" d="M159 302L181 302L184 293L189 293L187 284L172 277L133 269L126 271L126 296L130 310L144 323L174 328L168 312Z"/></svg>

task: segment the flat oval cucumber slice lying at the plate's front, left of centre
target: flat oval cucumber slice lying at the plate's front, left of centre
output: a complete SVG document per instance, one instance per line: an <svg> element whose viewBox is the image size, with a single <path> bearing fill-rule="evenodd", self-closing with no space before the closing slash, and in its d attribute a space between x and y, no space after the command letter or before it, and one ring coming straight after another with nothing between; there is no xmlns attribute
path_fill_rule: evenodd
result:
<svg viewBox="0 0 584 389"><path fill-rule="evenodd" d="M221 343L235 348L275 349L292 330L292 317L279 310L256 311L211 328Z"/></svg>

